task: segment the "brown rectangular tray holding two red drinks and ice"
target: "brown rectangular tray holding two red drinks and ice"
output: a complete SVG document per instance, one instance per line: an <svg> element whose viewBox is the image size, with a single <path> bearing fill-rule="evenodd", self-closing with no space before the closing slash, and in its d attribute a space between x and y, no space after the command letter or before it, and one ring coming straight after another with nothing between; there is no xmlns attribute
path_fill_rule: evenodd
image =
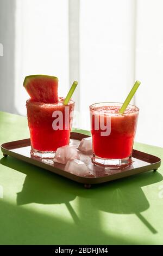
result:
<svg viewBox="0 0 163 256"><path fill-rule="evenodd" d="M71 133L70 142L72 145L77 145L80 140L89 136L80 133ZM122 169L109 169L108 167L94 165L91 162L91 155L80 153L80 158L86 163L87 167L93 171L93 175L86 177L78 176L66 172L64 170L65 165L60 163L54 163L52 160L34 158L30 156L30 139L17 140L7 142L1 145L3 156L16 157L24 162L34 164L48 171L52 171L55 174L59 174L70 180L83 183L86 188L90 188L91 184L104 183L118 178L123 178L141 172L157 170L161 165L161 159L152 156L151 154L143 153L141 151L133 150L133 163L126 168Z"/></svg>

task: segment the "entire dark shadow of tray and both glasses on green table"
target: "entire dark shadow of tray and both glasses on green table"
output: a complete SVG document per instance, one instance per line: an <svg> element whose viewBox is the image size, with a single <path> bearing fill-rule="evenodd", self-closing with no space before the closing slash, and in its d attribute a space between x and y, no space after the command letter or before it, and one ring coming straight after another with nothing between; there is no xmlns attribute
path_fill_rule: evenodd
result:
<svg viewBox="0 0 163 256"><path fill-rule="evenodd" d="M155 228L141 215L141 212L149 208L148 200L141 187L160 182L162 175L159 172L149 171L99 184L91 189L84 189L82 184L12 157L2 158L0 163L27 175L22 191L17 193L17 205L64 203L74 222L78 224L80 219L70 201L79 197L81 211L88 209L87 200L82 199L88 199L90 206L87 211L90 215L92 212L96 214L96 210L125 215L134 213L153 234L157 233Z"/></svg>

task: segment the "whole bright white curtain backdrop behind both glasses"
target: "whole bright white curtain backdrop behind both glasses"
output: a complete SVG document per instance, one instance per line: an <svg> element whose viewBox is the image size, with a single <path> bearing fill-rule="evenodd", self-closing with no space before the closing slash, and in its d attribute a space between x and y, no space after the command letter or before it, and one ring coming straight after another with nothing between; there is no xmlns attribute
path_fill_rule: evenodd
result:
<svg viewBox="0 0 163 256"><path fill-rule="evenodd" d="M55 75L60 96L79 81L75 126L90 129L90 104L123 102L140 80L136 141L163 147L162 0L15 1L15 113L26 115L24 76Z"/></svg>

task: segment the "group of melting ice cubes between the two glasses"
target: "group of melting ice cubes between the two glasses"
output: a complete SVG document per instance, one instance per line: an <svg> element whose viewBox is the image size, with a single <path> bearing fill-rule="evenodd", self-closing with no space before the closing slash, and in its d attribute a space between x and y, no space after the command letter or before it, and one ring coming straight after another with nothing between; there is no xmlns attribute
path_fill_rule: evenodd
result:
<svg viewBox="0 0 163 256"><path fill-rule="evenodd" d="M65 171L78 176L91 175L90 169L87 167L80 157L81 153L92 154L92 138L84 138L80 142L78 148L76 145L66 145L57 148L54 162L65 164Z"/></svg>

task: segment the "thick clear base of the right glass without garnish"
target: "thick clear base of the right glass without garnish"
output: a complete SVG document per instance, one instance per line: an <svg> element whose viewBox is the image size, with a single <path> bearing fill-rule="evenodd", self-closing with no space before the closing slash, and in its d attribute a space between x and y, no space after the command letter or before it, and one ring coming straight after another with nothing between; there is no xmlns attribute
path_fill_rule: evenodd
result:
<svg viewBox="0 0 163 256"><path fill-rule="evenodd" d="M93 154L92 163L97 165L107 166L110 169L119 169L119 168L124 168L125 166L130 165L132 163L132 160L130 157L123 158L123 159L105 159L105 158L95 156L95 154Z"/></svg>

